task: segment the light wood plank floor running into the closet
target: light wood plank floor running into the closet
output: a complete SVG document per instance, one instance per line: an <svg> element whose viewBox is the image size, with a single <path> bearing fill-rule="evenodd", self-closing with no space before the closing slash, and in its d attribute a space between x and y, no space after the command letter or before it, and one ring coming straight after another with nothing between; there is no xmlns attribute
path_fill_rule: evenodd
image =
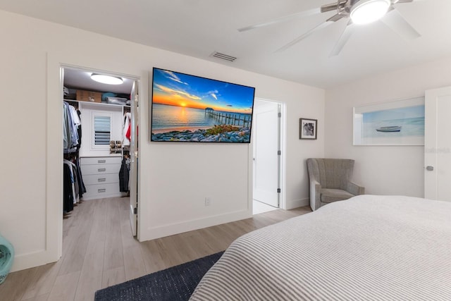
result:
<svg viewBox="0 0 451 301"><path fill-rule="evenodd" d="M310 212L278 209L252 219L138 242L128 198L85 201L63 221L63 256L53 264L11 273L0 300L94 300L96 290L226 250L249 231Z"/></svg>

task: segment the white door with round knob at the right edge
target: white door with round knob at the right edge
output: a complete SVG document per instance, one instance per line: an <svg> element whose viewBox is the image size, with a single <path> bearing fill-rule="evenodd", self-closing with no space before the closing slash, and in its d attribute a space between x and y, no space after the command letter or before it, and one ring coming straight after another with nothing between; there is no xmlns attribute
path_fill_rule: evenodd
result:
<svg viewBox="0 0 451 301"><path fill-rule="evenodd" d="M451 201L451 87L426 91L424 197Z"/></svg>

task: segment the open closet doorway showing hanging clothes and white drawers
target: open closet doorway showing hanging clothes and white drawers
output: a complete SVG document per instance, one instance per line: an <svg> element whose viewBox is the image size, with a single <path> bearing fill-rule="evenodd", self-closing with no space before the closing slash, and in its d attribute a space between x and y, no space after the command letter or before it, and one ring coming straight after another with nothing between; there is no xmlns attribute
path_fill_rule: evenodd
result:
<svg viewBox="0 0 451 301"><path fill-rule="evenodd" d="M126 216L130 225L122 232L135 236L139 81L73 66L62 66L61 71L65 110L63 250L68 247L64 237L75 216L75 223L83 223L89 216L99 219L102 211L105 215L111 210L109 223L120 227L124 223L121 216ZM117 82L93 80L94 74L107 75ZM85 202L89 205L83 207ZM115 214L116 207L123 214ZM99 211L95 217L94 210Z"/></svg>

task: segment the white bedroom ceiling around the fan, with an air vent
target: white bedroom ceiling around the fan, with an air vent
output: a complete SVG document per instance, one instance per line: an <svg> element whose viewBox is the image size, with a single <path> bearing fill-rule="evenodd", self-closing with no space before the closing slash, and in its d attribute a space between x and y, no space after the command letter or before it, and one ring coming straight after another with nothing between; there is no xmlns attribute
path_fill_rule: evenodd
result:
<svg viewBox="0 0 451 301"><path fill-rule="evenodd" d="M376 73L451 55L451 0L414 0L395 8L421 37L406 40L377 21L354 27L338 56L329 57L347 20L274 52L334 12L246 32L237 29L333 0L0 0L0 9L216 61L316 87L334 87ZM233 63L214 51L237 57Z"/></svg>

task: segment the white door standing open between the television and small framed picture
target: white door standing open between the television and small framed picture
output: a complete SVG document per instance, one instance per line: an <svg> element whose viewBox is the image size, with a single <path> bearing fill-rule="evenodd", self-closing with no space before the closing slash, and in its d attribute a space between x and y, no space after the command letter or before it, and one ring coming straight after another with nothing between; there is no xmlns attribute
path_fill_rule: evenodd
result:
<svg viewBox="0 0 451 301"><path fill-rule="evenodd" d="M255 100L254 199L279 207L280 104Z"/></svg>

